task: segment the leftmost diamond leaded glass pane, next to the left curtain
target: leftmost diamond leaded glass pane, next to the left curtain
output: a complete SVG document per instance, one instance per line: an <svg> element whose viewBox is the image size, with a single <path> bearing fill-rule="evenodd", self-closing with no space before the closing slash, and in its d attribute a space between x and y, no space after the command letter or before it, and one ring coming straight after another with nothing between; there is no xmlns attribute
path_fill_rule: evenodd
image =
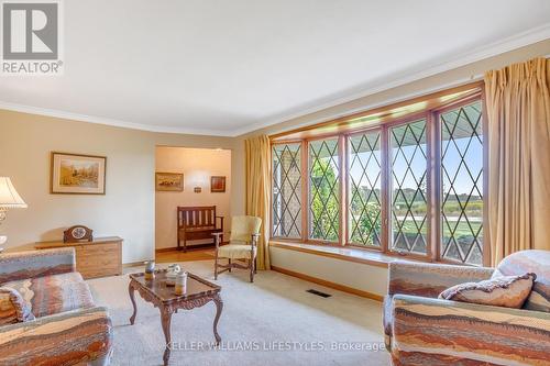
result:
<svg viewBox="0 0 550 366"><path fill-rule="evenodd" d="M301 144L273 145L273 236L301 236Z"/></svg>

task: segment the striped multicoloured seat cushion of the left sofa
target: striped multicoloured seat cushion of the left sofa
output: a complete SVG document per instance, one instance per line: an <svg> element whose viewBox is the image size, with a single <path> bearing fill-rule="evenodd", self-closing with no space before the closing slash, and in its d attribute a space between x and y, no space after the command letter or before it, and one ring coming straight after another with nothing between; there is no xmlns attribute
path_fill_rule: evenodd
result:
<svg viewBox="0 0 550 366"><path fill-rule="evenodd" d="M90 289L77 271L7 282L36 318L94 307Z"/></svg>

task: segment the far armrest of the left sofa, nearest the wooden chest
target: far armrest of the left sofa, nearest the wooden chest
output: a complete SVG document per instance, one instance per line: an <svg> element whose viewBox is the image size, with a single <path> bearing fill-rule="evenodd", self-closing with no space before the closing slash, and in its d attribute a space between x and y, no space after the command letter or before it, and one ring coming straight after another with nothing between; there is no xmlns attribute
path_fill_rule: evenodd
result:
<svg viewBox="0 0 550 366"><path fill-rule="evenodd" d="M73 247L0 255L0 284L75 270L76 259Z"/></svg>

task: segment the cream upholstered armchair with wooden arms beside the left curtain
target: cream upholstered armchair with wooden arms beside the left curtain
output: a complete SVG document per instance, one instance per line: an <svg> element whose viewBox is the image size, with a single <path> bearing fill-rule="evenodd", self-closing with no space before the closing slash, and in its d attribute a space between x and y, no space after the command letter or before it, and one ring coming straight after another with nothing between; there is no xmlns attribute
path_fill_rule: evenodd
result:
<svg viewBox="0 0 550 366"><path fill-rule="evenodd" d="M223 233L215 233L216 237L216 259L213 265L213 277L231 268L241 268L250 270L250 281L254 281L256 273L257 239L260 237L260 226L262 219L255 217L234 217L231 220L231 236L228 245L221 245L220 236ZM221 258L227 258L228 264L219 263ZM235 260L244 260L246 265ZM221 270L219 270L221 268Z"/></svg>

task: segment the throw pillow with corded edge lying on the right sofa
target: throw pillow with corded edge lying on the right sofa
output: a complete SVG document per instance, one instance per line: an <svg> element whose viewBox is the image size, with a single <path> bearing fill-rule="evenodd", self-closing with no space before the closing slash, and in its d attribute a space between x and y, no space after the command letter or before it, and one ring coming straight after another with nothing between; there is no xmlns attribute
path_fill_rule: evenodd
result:
<svg viewBox="0 0 550 366"><path fill-rule="evenodd" d="M480 282L460 284L439 295L440 299L506 308L521 308L531 292L535 274L503 276Z"/></svg>

